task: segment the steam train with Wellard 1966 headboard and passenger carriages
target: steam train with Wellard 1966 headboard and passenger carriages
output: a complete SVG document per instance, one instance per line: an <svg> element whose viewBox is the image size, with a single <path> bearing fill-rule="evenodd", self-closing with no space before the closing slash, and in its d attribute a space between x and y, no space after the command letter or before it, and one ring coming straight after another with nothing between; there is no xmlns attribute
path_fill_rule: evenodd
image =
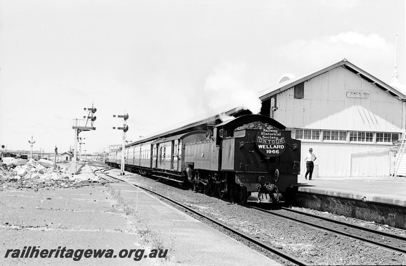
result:
<svg viewBox="0 0 406 266"><path fill-rule="evenodd" d="M121 166L121 153L106 164ZM279 204L297 184L300 140L278 121L245 115L207 130L127 144L125 170L170 180L241 203Z"/></svg>

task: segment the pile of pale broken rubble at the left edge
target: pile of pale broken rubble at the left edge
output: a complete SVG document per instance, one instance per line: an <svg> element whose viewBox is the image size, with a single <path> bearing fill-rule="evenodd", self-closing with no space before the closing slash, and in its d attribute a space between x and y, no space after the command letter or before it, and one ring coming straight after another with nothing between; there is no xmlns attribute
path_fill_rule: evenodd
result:
<svg viewBox="0 0 406 266"><path fill-rule="evenodd" d="M97 176L83 178L71 175L69 164L54 166L52 161L3 158L0 163L0 191L8 189L80 187L94 182L104 182Z"/></svg>

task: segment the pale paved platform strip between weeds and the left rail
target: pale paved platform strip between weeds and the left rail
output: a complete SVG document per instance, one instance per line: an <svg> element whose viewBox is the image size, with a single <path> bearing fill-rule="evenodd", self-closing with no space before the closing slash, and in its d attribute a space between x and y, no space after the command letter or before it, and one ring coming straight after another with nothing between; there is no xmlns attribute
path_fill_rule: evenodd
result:
<svg viewBox="0 0 406 266"><path fill-rule="evenodd" d="M114 175L111 172L110 175ZM117 176L124 178L123 176ZM127 182L112 183L170 249L168 264L281 265Z"/></svg>

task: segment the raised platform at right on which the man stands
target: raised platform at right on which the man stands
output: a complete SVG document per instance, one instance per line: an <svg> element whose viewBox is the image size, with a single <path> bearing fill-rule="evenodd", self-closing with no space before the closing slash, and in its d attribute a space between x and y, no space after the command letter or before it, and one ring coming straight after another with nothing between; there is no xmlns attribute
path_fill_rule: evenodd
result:
<svg viewBox="0 0 406 266"><path fill-rule="evenodd" d="M294 205L406 229L406 178L299 178Z"/></svg>

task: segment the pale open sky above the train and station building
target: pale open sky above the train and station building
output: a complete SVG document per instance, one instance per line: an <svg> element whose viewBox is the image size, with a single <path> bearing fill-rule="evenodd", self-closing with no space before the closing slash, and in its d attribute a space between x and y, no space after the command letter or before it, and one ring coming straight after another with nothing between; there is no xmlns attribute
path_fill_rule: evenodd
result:
<svg viewBox="0 0 406 266"><path fill-rule="evenodd" d="M86 153L151 136L343 58L406 83L404 0L0 0L0 145Z"/></svg>

